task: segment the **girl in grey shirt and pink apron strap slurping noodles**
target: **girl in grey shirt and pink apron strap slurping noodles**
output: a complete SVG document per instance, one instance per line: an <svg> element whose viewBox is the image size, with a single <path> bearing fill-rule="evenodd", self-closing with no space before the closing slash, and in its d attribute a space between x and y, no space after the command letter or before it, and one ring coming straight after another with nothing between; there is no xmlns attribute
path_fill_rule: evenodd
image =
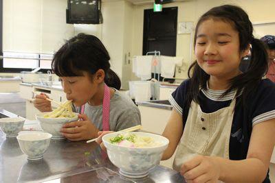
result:
<svg viewBox="0 0 275 183"><path fill-rule="evenodd" d="M140 125L140 111L120 91L120 78L111 69L109 53L102 42L87 34L67 40L54 54L52 70L61 78L68 100L76 106L80 121L63 125L71 141L96 138L99 131L119 131ZM36 95L34 106L52 111L47 95Z"/></svg>

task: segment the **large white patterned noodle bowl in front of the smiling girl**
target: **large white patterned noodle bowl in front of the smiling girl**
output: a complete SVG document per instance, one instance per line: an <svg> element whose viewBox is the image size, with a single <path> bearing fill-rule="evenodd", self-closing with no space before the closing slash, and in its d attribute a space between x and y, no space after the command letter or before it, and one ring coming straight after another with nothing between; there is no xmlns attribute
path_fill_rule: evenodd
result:
<svg viewBox="0 0 275 183"><path fill-rule="evenodd" d="M164 136L144 132L131 132L137 136L151 137L158 145L156 147L122 147L110 143L117 133L106 134L102 137L104 146L107 148L109 160L120 168L120 174L129 178L142 178L148 175L148 170L159 164L169 140Z"/></svg>

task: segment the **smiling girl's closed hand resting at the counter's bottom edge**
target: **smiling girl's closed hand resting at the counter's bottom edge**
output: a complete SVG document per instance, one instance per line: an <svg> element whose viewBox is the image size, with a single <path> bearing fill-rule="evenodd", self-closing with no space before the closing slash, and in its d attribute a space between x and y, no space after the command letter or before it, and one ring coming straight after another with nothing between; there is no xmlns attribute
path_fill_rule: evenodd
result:
<svg viewBox="0 0 275 183"><path fill-rule="evenodd" d="M191 182L217 182L220 176L219 163L211 156L195 156L181 165L181 175Z"/></svg>

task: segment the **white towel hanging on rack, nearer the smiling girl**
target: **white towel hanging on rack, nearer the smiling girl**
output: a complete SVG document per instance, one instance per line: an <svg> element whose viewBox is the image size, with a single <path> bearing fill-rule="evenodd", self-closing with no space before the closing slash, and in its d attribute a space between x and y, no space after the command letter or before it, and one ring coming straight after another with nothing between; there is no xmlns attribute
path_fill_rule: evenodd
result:
<svg viewBox="0 0 275 183"><path fill-rule="evenodd" d="M162 77L171 78L175 74L175 66L182 65L182 57L161 56Z"/></svg>

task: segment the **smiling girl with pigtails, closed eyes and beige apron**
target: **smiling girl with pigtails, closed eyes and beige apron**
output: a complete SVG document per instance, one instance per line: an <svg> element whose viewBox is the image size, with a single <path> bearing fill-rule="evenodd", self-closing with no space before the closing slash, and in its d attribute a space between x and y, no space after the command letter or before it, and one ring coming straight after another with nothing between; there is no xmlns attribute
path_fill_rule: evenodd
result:
<svg viewBox="0 0 275 183"><path fill-rule="evenodd" d="M169 99L173 111L163 133L169 144L162 160L177 148L173 168L186 182L270 182L275 84L263 79L267 51L252 32L248 14L234 5L214 7L197 23L197 60ZM250 67L242 73L250 44Z"/></svg>

